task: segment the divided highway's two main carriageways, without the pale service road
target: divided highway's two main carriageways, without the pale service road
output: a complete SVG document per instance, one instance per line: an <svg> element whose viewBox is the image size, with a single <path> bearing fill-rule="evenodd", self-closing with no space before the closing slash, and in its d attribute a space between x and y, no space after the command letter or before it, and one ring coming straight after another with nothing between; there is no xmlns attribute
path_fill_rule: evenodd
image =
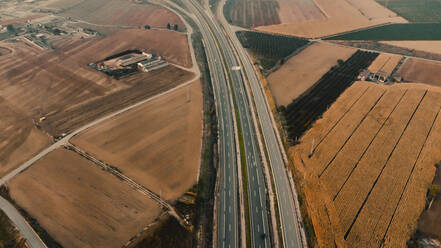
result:
<svg viewBox="0 0 441 248"><path fill-rule="evenodd" d="M242 180L237 176L237 170L241 169L241 165L236 161L240 158L225 157L226 143L235 144L231 137L225 139L225 130L233 129L234 123L229 120L225 123L225 117L234 118L236 111L239 116L238 125L242 130L242 139L244 145L244 154L247 166L247 186L250 217L250 238L253 247L271 247L270 228L268 225L267 211L267 194L265 189L265 179L263 176L263 165L261 154L258 147L256 136L256 128L250 112L250 102L247 97L243 75L240 70L234 70L235 66L240 63L236 60L236 56L231 49L227 37L223 34L218 23L213 18L207 16L199 3L193 0L184 1L188 9L196 17L195 22L199 24L200 30L204 37L205 49L208 57L208 63L211 71L213 85L215 87L216 103L220 129L221 144L221 182L220 192L217 206L218 213L218 247L239 247L239 215L237 214L237 180ZM221 67L222 69L220 69ZM228 84L230 82L230 84ZM235 107L229 106L234 102L228 102L230 97L229 87L234 92ZM220 96L218 93L221 93ZM226 112L225 112L226 111ZM227 125L226 125L227 124ZM230 125L230 126L229 126ZM222 149L224 147L224 149ZM234 155L240 156L239 153ZM225 157L225 159L222 159ZM230 161L227 161L230 160ZM229 163L228 163L229 162ZM227 163L227 164L225 164ZM231 178L231 180L230 180ZM242 225L246 225L243 223ZM244 226L241 226L244 228ZM242 230L242 229L241 229ZM241 244L245 244L245 237L241 237Z"/></svg>

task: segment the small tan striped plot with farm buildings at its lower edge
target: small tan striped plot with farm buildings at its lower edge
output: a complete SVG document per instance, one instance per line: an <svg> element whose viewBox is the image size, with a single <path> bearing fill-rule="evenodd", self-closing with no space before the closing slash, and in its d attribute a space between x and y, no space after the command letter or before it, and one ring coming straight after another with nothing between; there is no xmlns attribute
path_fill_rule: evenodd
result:
<svg viewBox="0 0 441 248"><path fill-rule="evenodd" d="M392 72L397 68L398 63L403 59L402 56L382 53L368 67L369 80L376 82L387 82L392 76Z"/></svg>

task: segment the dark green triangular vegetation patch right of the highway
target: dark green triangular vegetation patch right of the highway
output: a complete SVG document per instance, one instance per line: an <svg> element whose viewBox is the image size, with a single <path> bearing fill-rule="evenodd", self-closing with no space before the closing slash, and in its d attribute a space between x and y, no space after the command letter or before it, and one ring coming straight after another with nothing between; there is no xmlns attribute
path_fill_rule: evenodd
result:
<svg viewBox="0 0 441 248"><path fill-rule="evenodd" d="M279 61L309 43L306 39L258 32L239 31L236 33L242 46L249 49L260 65L269 70Z"/></svg>

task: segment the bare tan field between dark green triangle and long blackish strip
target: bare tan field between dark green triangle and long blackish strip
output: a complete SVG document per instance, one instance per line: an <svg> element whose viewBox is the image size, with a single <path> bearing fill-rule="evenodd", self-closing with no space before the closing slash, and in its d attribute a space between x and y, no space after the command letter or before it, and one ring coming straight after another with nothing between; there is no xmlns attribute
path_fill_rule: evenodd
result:
<svg viewBox="0 0 441 248"><path fill-rule="evenodd" d="M356 50L330 43L315 43L290 58L268 76L278 105L288 105L314 85L337 60L348 59Z"/></svg>

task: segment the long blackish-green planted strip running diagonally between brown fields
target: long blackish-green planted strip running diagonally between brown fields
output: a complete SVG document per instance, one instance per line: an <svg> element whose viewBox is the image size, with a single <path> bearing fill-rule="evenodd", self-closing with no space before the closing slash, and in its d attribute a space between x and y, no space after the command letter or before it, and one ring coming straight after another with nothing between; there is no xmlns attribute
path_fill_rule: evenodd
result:
<svg viewBox="0 0 441 248"><path fill-rule="evenodd" d="M377 56L378 53L358 50L341 65L331 68L314 86L282 109L286 130L292 143L297 142Z"/></svg>

